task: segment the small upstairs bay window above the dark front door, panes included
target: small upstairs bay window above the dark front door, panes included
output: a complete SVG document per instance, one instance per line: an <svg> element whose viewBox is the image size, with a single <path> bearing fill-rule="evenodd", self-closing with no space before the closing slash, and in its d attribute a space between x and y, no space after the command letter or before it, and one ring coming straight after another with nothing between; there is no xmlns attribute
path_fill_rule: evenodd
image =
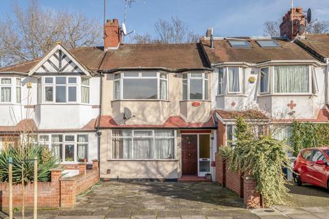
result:
<svg viewBox="0 0 329 219"><path fill-rule="evenodd" d="M183 100L208 100L208 74L183 73Z"/></svg>

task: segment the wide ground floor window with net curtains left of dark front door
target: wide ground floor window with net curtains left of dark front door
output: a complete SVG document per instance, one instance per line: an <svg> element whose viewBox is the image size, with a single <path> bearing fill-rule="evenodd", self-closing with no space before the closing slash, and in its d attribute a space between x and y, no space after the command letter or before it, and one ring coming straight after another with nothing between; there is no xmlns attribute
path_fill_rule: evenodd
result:
<svg viewBox="0 0 329 219"><path fill-rule="evenodd" d="M174 159L173 130L113 130L112 159Z"/></svg>

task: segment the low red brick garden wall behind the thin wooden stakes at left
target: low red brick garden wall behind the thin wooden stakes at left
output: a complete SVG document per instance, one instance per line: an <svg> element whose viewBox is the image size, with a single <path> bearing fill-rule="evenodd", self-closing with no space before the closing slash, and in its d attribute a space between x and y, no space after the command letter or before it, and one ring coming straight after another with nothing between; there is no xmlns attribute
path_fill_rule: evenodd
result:
<svg viewBox="0 0 329 219"><path fill-rule="evenodd" d="M50 182L38 182L39 208L71 208L75 206L76 196L99 181L99 162L93 160L93 168L87 170L87 164L78 164L79 175L62 177L63 168L51 170ZM22 207L22 185L13 185L13 207ZM33 208L34 184L25 185L25 207ZM9 206L9 184L0 183L0 209Z"/></svg>

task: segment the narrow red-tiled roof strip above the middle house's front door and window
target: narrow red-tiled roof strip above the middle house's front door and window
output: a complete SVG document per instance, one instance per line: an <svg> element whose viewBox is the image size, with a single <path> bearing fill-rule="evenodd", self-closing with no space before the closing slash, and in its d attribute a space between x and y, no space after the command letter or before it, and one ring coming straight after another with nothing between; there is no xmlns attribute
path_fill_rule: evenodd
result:
<svg viewBox="0 0 329 219"><path fill-rule="evenodd" d="M181 116L170 116L162 125L119 125L112 116L101 116L101 129L158 128L158 129L216 129L212 116L206 123L186 123Z"/></svg>

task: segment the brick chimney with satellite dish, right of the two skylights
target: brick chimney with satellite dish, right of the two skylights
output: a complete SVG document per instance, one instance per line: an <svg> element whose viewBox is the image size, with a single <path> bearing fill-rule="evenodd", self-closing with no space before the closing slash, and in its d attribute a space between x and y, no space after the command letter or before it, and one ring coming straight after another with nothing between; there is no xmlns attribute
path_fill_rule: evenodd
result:
<svg viewBox="0 0 329 219"><path fill-rule="evenodd" d="M291 28L291 25L293 25L293 28ZM291 40L295 39L297 36L305 36L305 29L302 35L298 33L300 25L304 25L304 27L306 28L306 19L303 13L303 8L291 8L291 10L289 10L282 17L282 23L280 24L280 35L287 36Z"/></svg>

